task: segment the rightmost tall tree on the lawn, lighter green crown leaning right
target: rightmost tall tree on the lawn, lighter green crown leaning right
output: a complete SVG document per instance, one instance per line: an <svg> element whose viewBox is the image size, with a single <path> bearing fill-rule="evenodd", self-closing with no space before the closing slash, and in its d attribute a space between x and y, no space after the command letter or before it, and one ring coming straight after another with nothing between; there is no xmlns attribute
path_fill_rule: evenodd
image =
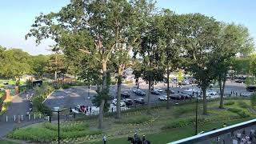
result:
<svg viewBox="0 0 256 144"><path fill-rule="evenodd" d="M226 75L232 67L232 58L235 57L235 54L248 54L253 50L254 45L252 38L249 36L248 30L244 26L221 25L216 50L214 51L214 70L218 75L221 96L219 108L223 108Z"/></svg>

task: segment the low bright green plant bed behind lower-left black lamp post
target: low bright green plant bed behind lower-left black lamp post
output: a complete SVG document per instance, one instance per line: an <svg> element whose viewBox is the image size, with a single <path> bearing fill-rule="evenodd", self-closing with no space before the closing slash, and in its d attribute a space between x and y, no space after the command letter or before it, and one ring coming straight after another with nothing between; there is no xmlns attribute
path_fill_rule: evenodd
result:
<svg viewBox="0 0 256 144"><path fill-rule="evenodd" d="M60 126L60 136L64 138L81 138L96 134L101 134L101 130L88 130L88 125L84 123L74 123L73 125ZM53 142L58 140L58 125L43 123L42 126L30 126L14 130L8 138L23 139L33 142Z"/></svg>

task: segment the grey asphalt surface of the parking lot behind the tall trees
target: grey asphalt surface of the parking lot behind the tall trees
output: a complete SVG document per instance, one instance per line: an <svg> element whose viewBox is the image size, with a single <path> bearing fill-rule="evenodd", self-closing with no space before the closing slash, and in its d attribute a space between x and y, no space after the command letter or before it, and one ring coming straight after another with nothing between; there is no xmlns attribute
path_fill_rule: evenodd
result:
<svg viewBox="0 0 256 144"><path fill-rule="evenodd" d="M166 95L166 83L158 83L154 86L155 89L162 88L162 92L157 94L151 94L150 102L161 102L159 101L158 97ZM49 98L46 99L46 106L49 106L50 108L53 107L65 107L70 108L77 105L85 105L85 106L94 106L91 102L92 98L96 94L95 91L96 87L91 86L90 89L88 89L87 86L81 86L81 87L72 87L70 89L66 90L55 90L53 94L50 95ZM186 86L177 86L176 84L172 83L170 84L170 89L174 90L174 94L182 94L188 89L198 90L201 91L198 86L196 85L186 85ZM134 100L135 98L144 98L145 102L147 102L147 90L148 85L146 82L141 82L140 84L140 90L145 92L146 96L138 96L133 92L133 90L136 90L134 88L134 85L122 85L122 93L126 92L130 95L130 99ZM185 91L184 91L185 90ZM208 98L218 98L218 87L213 87L212 90L214 90L217 94L215 96L210 96ZM232 91L232 94L231 94ZM117 93L117 86L110 86L110 95L112 98L116 98ZM226 90L225 95L226 97L234 96L237 94L240 96L250 96L250 92L246 91L246 86L242 83L236 83L236 82L226 82ZM173 99L170 100L171 102L177 102ZM110 102L111 103L111 102Z"/></svg>

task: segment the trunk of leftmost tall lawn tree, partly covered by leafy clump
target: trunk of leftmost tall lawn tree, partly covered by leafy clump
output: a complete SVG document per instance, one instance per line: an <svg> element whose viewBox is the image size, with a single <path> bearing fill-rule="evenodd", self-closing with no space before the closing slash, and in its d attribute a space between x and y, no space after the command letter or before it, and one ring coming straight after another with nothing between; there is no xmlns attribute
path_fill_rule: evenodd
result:
<svg viewBox="0 0 256 144"><path fill-rule="evenodd" d="M103 71L102 90L106 90L106 60L102 60L102 71ZM105 99L102 98L102 102L101 102L101 106L99 107L99 114L98 114L99 129L102 129L104 105L105 105Z"/></svg>

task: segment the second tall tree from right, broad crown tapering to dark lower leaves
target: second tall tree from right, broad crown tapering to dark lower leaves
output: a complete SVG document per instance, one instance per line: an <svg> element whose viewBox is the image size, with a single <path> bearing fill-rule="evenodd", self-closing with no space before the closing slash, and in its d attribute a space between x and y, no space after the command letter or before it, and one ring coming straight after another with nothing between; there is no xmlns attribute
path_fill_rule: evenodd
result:
<svg viewBox="0 0 256 144"><path fill-rule="evenodd" d="M186 19L182 30L186 68L202 88L203 114L207 114L206 89L216 78L213 54L220 30L219 22L202 14L184 14L182 17Z"/></svg>

